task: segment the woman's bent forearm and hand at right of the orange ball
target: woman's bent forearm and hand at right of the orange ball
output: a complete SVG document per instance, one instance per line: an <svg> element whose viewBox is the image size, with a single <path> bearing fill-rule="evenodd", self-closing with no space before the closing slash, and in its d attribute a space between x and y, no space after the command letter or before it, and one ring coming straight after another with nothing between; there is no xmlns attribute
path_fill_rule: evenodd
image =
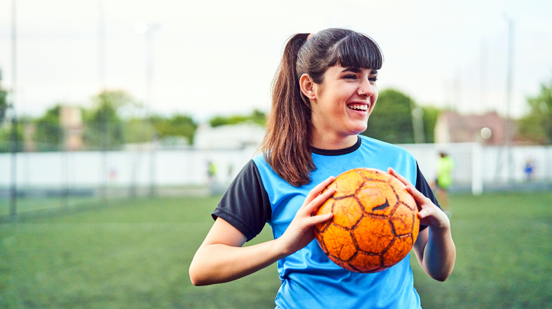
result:
<svg viewBox="0 0 552 309"><path fill-rule="evenodd" d="M406 190L418 204L420 223L428 228L422 230L414 243L414 253L422 269L435 280L445 281L451 275L456 259L456 248L451 235L451 221L445 213L418 191L410 181L392 168L388 172L405 184Z"/></svg>

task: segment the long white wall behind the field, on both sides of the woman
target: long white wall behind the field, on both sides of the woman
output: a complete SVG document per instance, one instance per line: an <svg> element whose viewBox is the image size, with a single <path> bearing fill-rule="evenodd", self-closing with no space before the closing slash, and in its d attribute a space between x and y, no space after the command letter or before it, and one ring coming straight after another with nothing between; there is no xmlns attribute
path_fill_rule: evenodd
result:
<svg viewBox="0 0 552 309"><path fill-rule="evenodd" d="M457 184L524 181L526 159L535 165L534 180L552 181L552 147L513 147L507 164L505 148L481 147L476 143L400 145L417 159L428 181L435 179L435 163L440 151L455 160L453 178ZM255 147L219 150L157 150L153 157L157 186L203 185L208 183L208 162L217 164L217 181L230 183L251 159ZM478 151L479 149L479 151ZM474 152L475 150L475 152ZM12 155L0 154L0 188L10 186ZM150 185L151 152L28 152L17 154L17 186L23 187L96 187L108 181L110 186ZM480 160L477 163L477 160ZM475 162L475 165L474 165ZM475 171L474 171L474 167Z"/></svg>

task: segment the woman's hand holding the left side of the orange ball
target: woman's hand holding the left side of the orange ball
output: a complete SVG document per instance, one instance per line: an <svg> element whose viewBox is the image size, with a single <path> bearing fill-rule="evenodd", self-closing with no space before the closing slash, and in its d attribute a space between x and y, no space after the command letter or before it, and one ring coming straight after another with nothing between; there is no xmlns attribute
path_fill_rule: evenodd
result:
<svg viewBox="0 0 552 309"><path fill-rule="evenodd" d="M335 193L334 188L322 192L334 179L333 176L329 177L308 192L303 206L297 210L284 235L276 239L284 255L291 255L311 243L315 239L313 227L333 217L332 213L313 216L313 212Z"/></svg>

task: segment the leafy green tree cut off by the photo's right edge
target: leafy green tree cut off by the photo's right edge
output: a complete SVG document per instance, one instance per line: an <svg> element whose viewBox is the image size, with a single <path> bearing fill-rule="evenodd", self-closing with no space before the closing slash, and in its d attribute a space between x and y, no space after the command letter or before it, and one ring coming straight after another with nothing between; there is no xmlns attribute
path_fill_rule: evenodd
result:
<svg viewBox="0 0 552 309"><path fill-rule="evenodd" d="M552 79L542 83L540 93L528 97L527 103L529 114L518 121L518 135L532 143L552 144Z"/></svg>

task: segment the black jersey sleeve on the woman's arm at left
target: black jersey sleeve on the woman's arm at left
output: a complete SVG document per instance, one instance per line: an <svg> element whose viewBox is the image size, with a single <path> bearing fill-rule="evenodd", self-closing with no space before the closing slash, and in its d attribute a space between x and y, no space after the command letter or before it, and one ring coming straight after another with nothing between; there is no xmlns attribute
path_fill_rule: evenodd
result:
<svg viewBox="0 0 552 309"><path fill-rule="evenodd" d="M237 228L247 241L259 235L271 215L270 199L253 160L242 168L211 214Z"/></svg>

